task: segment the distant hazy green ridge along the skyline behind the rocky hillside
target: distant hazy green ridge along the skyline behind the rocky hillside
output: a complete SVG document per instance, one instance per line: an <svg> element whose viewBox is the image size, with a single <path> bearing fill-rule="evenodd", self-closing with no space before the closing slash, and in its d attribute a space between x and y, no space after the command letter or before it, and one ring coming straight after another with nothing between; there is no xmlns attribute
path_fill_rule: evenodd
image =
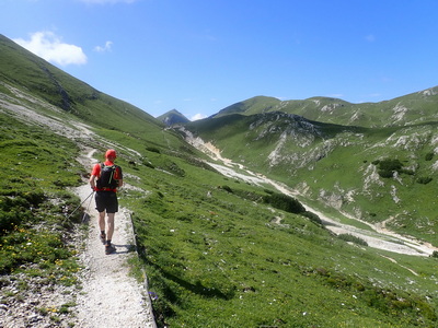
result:
<svg viewBox="0 0 438 328"><path fill-rule="evenodd" d="M312 97L302 101L279 101L257 96L239 102L216 117L283 112L309 120L360 127L391 127L438 120L438 86L380 103L351 104L343 99Z"/></svg>

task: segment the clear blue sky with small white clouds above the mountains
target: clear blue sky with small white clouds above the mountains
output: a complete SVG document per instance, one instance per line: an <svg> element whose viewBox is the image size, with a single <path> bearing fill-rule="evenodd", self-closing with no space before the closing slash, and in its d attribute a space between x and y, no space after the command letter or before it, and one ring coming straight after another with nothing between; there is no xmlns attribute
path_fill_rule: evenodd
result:
<svg viewBox="0 0 438 328"><path fill-rule="evenodd" d="M1 0L0 33L152 116L438 85L437 0Z"/></svg>

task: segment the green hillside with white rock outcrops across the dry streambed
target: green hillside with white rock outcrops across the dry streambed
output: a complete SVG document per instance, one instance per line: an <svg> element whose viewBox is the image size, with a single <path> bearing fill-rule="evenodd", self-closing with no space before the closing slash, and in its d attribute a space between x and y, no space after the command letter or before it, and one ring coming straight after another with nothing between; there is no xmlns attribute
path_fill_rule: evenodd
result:
<svg viewBox="0 0 438 328"><path fill-rule="evenodd" d="M357 128L281 113L228 115L186 126L307 201L438 246L437 124Z"/></svg>

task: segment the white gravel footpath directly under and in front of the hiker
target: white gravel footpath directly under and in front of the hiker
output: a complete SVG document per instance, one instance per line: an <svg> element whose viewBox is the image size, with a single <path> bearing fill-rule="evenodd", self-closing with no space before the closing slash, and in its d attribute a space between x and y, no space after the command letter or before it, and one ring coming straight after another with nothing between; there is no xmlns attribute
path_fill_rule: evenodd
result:
<svg viewBox="0 0 438 328"><path fill-rule="evenodd" d="M90 151L82 159L85 167L92 167ZM96 162L96 161L95 161ZM97 211L94 209L94 194L85 184L76 189L90 218L89 236L80 261L84 266L81 274L82 291L77 295L77 327L83 328L155 328L151 301L147 286L129 276L128 259L137 256L129 212L120 209L115 216L113 244L117 250L105 255L100 241Z"/></svg>

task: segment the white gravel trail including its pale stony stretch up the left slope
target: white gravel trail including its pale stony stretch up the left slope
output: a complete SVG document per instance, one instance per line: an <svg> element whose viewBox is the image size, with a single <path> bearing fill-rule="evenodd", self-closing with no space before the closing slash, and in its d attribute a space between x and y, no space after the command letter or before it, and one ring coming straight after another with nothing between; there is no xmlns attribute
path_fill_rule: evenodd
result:
<svg viewBox="0 0 438 328"><path fill-rule="evenodd" d="M5 86L16 94L18 98L1 96L0 113L11 115L27 125L45 127L59 136L74 140L82 154L77 160L87 172L91 172L92 165L97 163L93 159L95 150L88 147L90 142L97 141L108 148L115 148L110 140L99 138L90 126L77 120L57 118L59 108L10 85ZM37 113L34 108L35 104L51 110L53 115ZM130 149L125 149L125 151L138 154ZM129 184L124 185L124 188L134 188ZM88 215L84 214L84 218L89 219L89 232L83 251L79 255L83 267L79 273L82 290L77 294L77 305L71 308L73 318L69 318L69 321L73 320L74 327L80 328L155 328L147 280L145 279L145 283L141 284L129 274L130 267L127 261L130 257L137 256L137 253L132 251L135 235L129 211L120 208L120 211L116 213L113 244L117 247L117 251L105 255L104 245L99 238L100 229L97 211L94 209L94 195L91 196L92 190L88 180L83 180L83 185L72 191L80 197L82 207L87 210ZM55 300L59 295L54 293L45 296ZM23 314L26 316L25 312Z"/></svg>

